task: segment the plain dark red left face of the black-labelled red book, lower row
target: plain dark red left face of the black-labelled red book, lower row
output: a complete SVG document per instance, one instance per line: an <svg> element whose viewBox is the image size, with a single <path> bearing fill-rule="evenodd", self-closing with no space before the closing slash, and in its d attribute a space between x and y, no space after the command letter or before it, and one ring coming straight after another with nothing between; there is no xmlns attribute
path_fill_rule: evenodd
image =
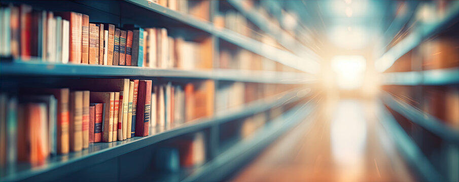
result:
<svg viewBox="0 0 459 182"><path fill-rule="evenodd" d="M146 81L138 81L137 111L135 120L135 136L142 136L144 133L144 112L145 112L145 87Z"/></svg>

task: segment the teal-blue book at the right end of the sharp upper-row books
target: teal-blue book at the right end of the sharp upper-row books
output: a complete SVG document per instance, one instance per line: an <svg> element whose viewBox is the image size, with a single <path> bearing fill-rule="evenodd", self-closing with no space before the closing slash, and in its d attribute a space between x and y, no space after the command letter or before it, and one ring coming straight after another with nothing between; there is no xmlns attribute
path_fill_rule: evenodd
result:
<svg viewBox="0 0 459 182"><path fill-rule="evenodd" d="M142 67L144 64L144 29L132 30L132 60L131 66Z"/></svg>

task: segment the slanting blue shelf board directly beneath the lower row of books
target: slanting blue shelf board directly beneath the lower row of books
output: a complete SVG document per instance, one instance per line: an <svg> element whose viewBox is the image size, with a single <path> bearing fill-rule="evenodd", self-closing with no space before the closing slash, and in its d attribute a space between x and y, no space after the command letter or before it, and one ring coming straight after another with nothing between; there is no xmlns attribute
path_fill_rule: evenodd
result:
<svg viewBox="0 0 459 182"><path fill-rule="evenodd" d="M170 126L167 130L165 127L161 126L151 127L151 135L145 137L134 137L125 141L112 143L91 144L88 149L81 152L72 152L67 155L51 157L44 165L30 166L29 164L19 164L12 168L2 169L0 171L2 177L0 178L2 181L18 181L29 179L31 177L33 177L33 179L49 179L50 177L52 178L58 174L66 174L77 171L136 149L150 146L160 141L171 139L185 133L202 130L203 128L231 121L240 117L245 117L253 113L261 112L263 111L262 109L269 109L275 106L291 103L306 96L292 97L292 95L297 95L297 93L297 89L291 92L281 93L283 95L279 94L270 97L267 101L255 101L241 107L238 110L230 110L228 112L216 114L211 118L202 118Z"/></svg>

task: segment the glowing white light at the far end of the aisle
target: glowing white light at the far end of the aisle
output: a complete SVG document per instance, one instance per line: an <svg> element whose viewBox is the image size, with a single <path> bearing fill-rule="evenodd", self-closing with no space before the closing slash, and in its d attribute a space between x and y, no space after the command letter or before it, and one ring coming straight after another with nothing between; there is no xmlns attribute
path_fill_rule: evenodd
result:
<svg viewBox="0 0 459 182"><path fill-rule="evenodd" d="M331 66L336 73L338 86L343 89L355 89L362 86L365 58L362 56L335 56Z"/></svg>

